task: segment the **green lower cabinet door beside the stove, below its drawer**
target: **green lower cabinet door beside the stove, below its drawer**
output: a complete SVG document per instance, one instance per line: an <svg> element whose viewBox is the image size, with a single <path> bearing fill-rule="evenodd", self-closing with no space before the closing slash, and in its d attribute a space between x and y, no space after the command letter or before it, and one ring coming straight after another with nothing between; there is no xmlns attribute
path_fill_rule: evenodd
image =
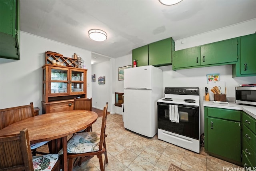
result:
<svg viewBox="0 0 256 171"><path fill-rule="evenodd" d="M208 117L208 151L241 162L240 122Z"/></svg>

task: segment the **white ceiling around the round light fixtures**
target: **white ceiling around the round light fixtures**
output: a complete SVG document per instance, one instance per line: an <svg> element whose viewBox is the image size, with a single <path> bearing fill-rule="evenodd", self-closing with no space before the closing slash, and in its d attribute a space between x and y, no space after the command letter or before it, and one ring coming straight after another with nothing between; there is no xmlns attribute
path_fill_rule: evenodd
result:
<svg viewBox="0 0 256 171"><path fill-rule="evenodd" d="M20 0L21 31L94 52L96 62L254 18L256 0L183 0L173 6L158 0ZM91 40L93 28L108 39Z"/></svg>

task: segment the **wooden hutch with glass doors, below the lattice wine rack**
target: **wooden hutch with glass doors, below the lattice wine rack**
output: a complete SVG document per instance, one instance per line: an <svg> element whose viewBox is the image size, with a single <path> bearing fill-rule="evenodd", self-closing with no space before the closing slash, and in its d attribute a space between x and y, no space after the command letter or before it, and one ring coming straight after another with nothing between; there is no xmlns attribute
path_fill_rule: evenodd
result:
<svg viewBox="0 0 256 171"><path fill-rule="evenodd" d="M74 97L86 98L87 69L45 64L42 113L73 110Z"/></svg>

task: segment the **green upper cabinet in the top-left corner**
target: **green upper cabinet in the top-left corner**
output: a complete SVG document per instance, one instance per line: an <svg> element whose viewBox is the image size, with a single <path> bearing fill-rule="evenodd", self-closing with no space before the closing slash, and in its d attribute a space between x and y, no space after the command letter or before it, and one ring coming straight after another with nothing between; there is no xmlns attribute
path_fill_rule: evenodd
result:
<svg viewBox="0 0 256 171"><path fill-rule="evenodd" d="M19 1L0 0L0 58L20 60Z"/></svg>

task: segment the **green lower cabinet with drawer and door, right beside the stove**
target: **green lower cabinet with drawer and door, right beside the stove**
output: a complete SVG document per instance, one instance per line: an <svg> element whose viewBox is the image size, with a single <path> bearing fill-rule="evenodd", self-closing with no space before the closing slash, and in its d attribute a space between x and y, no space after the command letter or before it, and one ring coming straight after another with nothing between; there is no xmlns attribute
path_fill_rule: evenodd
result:
<svg viewBox="0 0 256 171"><path fill-rule="evenodd" d="M242 165L241 111L204 107L206 153Z"/></svg>

